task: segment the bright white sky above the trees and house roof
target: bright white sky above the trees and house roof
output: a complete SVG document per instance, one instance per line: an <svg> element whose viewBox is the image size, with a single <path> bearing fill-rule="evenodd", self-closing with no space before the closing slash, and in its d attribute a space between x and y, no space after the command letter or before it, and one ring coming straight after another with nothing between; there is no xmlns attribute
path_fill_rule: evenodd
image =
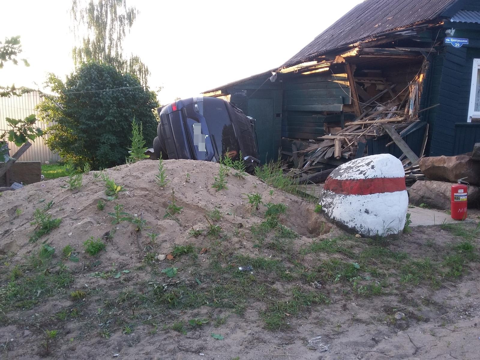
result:
<svg viewBox="0 0 480 360"><path fill-rule="evenodd" d="M148 66L149 86L163 87L165 104L281 65L360 2L127 0L140 14L124 48ZM30 67L7 63L0 84L43 88L48 72L61 79L72 72L70 6L3 1L0 37L20 35L19 58Z"/></svg>

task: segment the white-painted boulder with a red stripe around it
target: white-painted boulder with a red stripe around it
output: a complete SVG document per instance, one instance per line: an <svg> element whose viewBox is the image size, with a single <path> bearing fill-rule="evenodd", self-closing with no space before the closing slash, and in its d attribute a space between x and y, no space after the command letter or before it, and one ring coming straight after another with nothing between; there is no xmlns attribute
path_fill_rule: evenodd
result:
<svg viewBox="0 0 480 360"><path fill-rule="evenodd" d="M340 165L325 181L320 204L348 231L365 237L396 234L405 226L408 208L402 163L380 154Z"/></svg>

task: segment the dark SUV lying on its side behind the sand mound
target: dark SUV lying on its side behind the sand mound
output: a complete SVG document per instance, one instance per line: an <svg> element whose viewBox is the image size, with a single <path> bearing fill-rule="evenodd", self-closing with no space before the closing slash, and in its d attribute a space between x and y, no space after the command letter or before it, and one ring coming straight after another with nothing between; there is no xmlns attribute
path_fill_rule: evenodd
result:
<svg viewBox="0 0 480 360"><path fill-rule="evenodd" d="M224 156L259 164L255 120L232 103L216 97L191 97L158 108L160 122L153 148L164 159L219 162Z"/></svg>

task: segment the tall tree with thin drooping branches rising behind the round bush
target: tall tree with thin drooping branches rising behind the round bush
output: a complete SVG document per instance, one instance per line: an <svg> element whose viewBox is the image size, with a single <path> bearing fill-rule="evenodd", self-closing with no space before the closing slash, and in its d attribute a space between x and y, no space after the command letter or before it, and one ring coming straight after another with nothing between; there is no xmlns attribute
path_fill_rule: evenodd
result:
<svg viewBox="0 0 480 360"><path fill-rule="evenodd" d="M147 86L148 67L138 56L125 57L122 42L138 11L126 0L72 0L73 34L81 43L72 49L75 66L94 60L121 73L135 74ZM80 40L79 35L82 35Z"/></svg>

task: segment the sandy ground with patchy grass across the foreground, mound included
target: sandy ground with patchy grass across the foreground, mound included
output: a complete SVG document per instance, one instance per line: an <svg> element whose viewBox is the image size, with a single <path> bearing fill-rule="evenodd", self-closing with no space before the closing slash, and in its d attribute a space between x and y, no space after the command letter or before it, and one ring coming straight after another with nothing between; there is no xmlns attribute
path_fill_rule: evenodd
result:
<svg viewBox="0 0 480 360"><path fill-rule="evenodd" d="M165 166L170 181L165 188L155 183L157 162L108 169L125 186L113 201L93 172L74 191L61 188L63 179L57 179L3 193L0 359L480 359L480 263L476 255L462 260L459 274L451 276L446 262L453 255L464 259L460 243L478 248L475 224L419 227L391 240L359 239L327 223L314 212L315 204L256 177L230 175L228 189L216 192L217 164L167 160ZM172 189L183 209L164 218ZM266 209L261 205L255 211L248 204L246 194L256 192L264 203L286 204L279 221L298 236L283 237L280 228L264 236L255 232ZM106 204L103 210L96 207L99 199ZM33 213L50 201L47 212L62 219L60 227L29 243ZM145 228L136 231L128 221L112 225L108 213L116 204L146 220ZM219 220L209 215L215 208L222 214ZM206 236L209 224L222 233ZM204 233L195 238L192 229ZM155 242L148 232L159 234ZM83 243L91 236L103 240L106 250L85 253ZM332 247L308 250L332 239ZM43 243L55 254L34 266ZM155 259L189 244L195 249L191 253ZM62 259L67 245L78 262ZM324 266L332 259L354 264L356 277L335 280L341 270L330 274ZM269 267L269 261L276 265ZM236 270L248 264L252 271ZM161 272L168 267L178 274L169 278ZM71 275L65 286L42 288L32 281L62 271ZM417 271L424 274L418 283L405 277ZM38 287L32 302L20 303L22 293L12 290L22 284ZM370 290L375 286L380 293ZM153 301L162 287L161 300ZM305 300L292 313L278 312L280 305L294 303L295 289L328 301ZM84 291L82 299L72 298L75 290ZM164 296L172 294L180 295ZM276 328L267 325L273 313L282 317ZM192 326L191 319L208 322ZM57 334L48 338L47 330Z"/></svg>

